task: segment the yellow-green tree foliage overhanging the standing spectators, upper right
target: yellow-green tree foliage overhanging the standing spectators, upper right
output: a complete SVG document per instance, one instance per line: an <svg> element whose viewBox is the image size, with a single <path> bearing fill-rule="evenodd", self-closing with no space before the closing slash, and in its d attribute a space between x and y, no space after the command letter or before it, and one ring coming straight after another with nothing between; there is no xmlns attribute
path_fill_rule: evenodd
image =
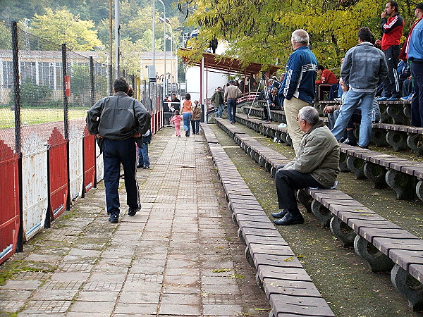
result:
<svg viewBox="0 0 423 317"><path fill-rule="evenodd" d="M370 27L379 37L380 13L385 0L180 0L181 11L188 10L188 25L200 27L191 41L193 52L200 52L216 37L228 42L226 55L237 56L245 64L252 61L284 65L292 52L291 33L307 30L314 54L324 66L339 66L341 57L357 44L360 27ZM400 12L410 25L410 4L400 2ZM405 14L403 13L405 12Z"/></svg>

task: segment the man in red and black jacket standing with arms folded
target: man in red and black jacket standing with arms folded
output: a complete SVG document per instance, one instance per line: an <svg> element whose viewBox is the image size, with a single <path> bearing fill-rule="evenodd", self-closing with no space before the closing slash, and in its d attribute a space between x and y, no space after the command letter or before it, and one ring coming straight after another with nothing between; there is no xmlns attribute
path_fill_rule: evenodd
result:
<svg viewBox="0 0 423 317"><path fill-rule="evenodd" d="M404 20L398 13L398 3L388 1L384 12L381 13L381 31L384 33L382 40L376 41L381 44L388 64L388 77L384 80L384 91L382 97L377 101L394 101L400 98L400 80L398 78L397 66L398 55L400 54L400 38L403 36Z"/></svg>

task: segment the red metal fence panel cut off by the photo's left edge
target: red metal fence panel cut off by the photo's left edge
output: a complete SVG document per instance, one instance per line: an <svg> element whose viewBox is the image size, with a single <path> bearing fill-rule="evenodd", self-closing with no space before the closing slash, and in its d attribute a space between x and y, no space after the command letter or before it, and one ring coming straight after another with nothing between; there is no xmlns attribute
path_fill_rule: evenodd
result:
<svg viewBox="0 0 423 317"><path fill-rule="evenodd" d="M0 140L0 263L16 250L19 232L18 154Z"/></svg>

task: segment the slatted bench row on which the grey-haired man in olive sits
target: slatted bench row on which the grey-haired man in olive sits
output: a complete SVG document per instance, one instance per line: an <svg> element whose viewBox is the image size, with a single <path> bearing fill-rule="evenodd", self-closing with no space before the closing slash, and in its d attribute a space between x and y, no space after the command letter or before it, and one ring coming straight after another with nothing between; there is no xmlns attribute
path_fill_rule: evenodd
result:
<svg viewBox="0 0 423 317"><path fill-rule="evenodd" d="M225 121L218 120L217 124L247 153L250 151L250 156L266 170L276 170L279 165L275 161L266 161L267 156L286 160L278 152L255 144L255 139L249 135L228 129ZM303 189L298 192L298 199L307 211L317 216L322 225L330 225L333 235L344 246L353 244L355 252L373 272L391 270L393 285L408 299L410 307L416 310L422 308L423 290L414 287L410 276L418 281L417 284L423 282L423 240L338 189Z"/></svg>

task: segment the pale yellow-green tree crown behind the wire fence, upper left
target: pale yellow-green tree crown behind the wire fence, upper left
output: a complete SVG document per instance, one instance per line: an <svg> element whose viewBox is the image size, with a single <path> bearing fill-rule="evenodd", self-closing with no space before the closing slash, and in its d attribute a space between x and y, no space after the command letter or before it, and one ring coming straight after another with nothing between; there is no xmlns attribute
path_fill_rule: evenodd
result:
<svg viewBox="0 0 423 317"><path fill-rule="evenodd" d="M74 51L92 51L101 46L90 20L80 20L67 10L53 11L46 9L43 15L35 14L31 23L31 32L38 37L55 43L66 43Z"/></svg>

